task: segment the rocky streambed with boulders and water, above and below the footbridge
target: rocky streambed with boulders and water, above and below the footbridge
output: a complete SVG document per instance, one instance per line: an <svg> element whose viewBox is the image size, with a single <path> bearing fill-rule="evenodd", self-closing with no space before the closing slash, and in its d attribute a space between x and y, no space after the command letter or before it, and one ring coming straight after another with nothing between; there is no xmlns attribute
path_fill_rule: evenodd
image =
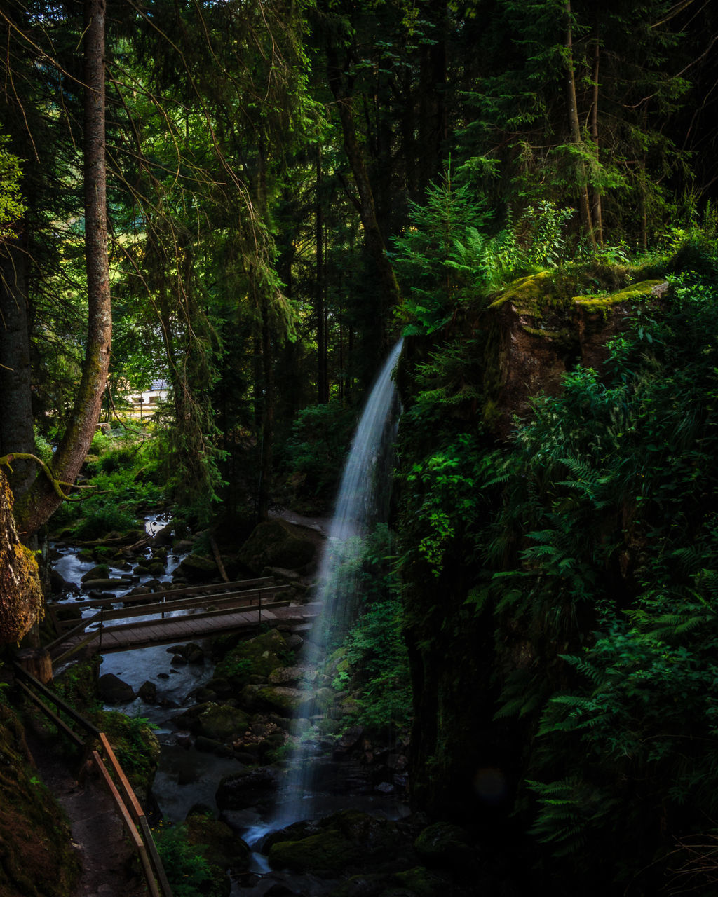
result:
<svg viewBox="0 0 718 897"><path fill-rule="evenodd" d="M218 579L200 540L150 524L146 543L56 546L64 603ZM258 530L234 554L224 546L229 575L272 573L293 583L294 601L308 600L320 537L284 520ZM468 833L409 815L407 745L355 725L336 670L302 663L306 640L311 631L280 625L103 658L102 701L156 727L156 820L205 846L217 895L476 893ZM296 776L298 766L311 774Z"/></svg>

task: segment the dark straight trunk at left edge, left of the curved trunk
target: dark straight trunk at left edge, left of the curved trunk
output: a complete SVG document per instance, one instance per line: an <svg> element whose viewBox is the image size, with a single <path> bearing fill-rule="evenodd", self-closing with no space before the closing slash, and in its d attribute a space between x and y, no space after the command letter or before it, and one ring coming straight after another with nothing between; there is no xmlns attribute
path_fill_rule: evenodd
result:
<svg viewBox="0 0 718 897"><path fill-rule="evenodd" d="M0 455L35 452L32 429L28 250L22 238L4 241L0 252ZM15 500L37 474L31 461L16 461L9 476Z"/></svg>

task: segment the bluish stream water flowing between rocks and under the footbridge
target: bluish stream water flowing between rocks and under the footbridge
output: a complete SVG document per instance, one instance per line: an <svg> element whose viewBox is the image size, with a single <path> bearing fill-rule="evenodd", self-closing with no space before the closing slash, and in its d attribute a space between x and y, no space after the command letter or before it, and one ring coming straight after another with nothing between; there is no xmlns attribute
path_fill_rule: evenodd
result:
<svg viewBox="0 0 718 897"><path fill-rule="evenodd" d="M167 518L154 515L147 518L145 528L153 536L168 522ZM74 595L67 595L60 600L71 604L74 600L92 597L92 593L82 591L81 580L85 573L96 566L96 562L81 560L77 556L80 549L69 544L51 545L51 549L54 556L53 570L76 589ZM146 556L150 553L150 548L144 552ZM184 556L184 553L176 553L169 548L166 570L158 576L141 574L138 577L129 570L110 565L111 577L120 579L124 576L127 579L127 588L112 590L112 595L118 598L118 605L121 604L122 597L137 585L150 583L152 588L158 588L157 581L171 582ZM92 613L92 608L83 609L85 615ZM156 700L152 703L136 697L134 701L107 705L107 708L120 710L127 716L146 718L156 727L155 735L160 742L161 753L154 778L153 798L158 814L171 823L179 824L185 821L193 806L209 806L254 849L249 871L232 879L232 897L261 897L274 884L288 883L290 879L293 887L305 884L310 887L311 893L322 893L321 884L317 881L299 882L296 875L269 870L267 859L259 852L267 833L302 819L319 818L349 807L376 816L398 819L408 813L407 806L396 797L381 794L355 794L349 790L332 793L336 790L332 788L332 783L341 778L342 764L326 758L315 758L309 763L303 757L291 765L304 767L319 762L323 768L320 779L325 786L329 783L327 790L312 790L306 784L306 777L302 776L299 779L303 784L299 786L298 777L290 774L286 777L287 784L278 790L271 806L220 811L215 802L217 786L224 776L240 771L243 768L241 763L232 757L223 758L215 753L198 751L194 746L194 739L187 732L178 730L174 721L183 710L188 710L195 704L194 692L206 684L214 673L214 664L207 657L209 646L202 641L198 644L205 656L194 663L179 664L174 659L171 648L164 645L109 653L102 658L100 675L112 673L130 685L134 692L138 692L145 683L152 684L156 690Z"/></svg>

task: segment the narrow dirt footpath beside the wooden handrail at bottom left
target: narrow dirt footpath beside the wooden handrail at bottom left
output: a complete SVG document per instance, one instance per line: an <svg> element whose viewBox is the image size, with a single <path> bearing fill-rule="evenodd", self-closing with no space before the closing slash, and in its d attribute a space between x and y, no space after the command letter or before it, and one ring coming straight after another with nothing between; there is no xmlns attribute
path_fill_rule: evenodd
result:
<svg viewBox="0 0 718 897"><path fill-rule="evenodd" d="M143 897L144 879L112 798L91 768L78 782L71 762L39 730L26 726L39 776L65 811L82 875L73 897Z"/></svg>

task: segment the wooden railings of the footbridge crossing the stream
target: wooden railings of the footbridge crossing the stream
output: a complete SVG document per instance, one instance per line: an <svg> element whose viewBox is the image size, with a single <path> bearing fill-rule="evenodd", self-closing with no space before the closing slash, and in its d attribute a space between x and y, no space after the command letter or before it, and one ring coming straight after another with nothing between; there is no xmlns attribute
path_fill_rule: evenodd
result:
<svg viewBox="0 0 718 897"><path fill-rule="evenodd" d="M255 587L255 588L252 588ZM223 588L222 592L216 591ZM262 610L269 610L274 607L284 607L289 604L289 600L276 601L276 594L288 591L291 586L277 586L271 577L263 579L244 579L237 582L229 582L219 587L215 586L199 586L194 588L175 588L167 589L162 592L153 592L148 595L130 595L121 598L96 598L94 600L77 601L72 605L66 603L49 604L48 613L50 614L56 631L57 639L45 645L52 656L53 665L62 663L74 653L82 649L90 642L97 640L97 649L101 651L102 633L104 631L118 630L137 630L146 626L156 626L159 620L167 619L165 614L176 611L192 611L197 608L210 607L209 610L200 611L191 614L191 619L199 620L207 617L220 616L226 614L229 610L250 610L257 608L257 622L262 622ZM214 591L213 591L214 590ZM197 594L199 593L199 594ZM187 597L191 595L192 597ZM267 601L267 597L270 600ZM121 603L122 607L113 607ZM81 613L83 608L96 608L100 605L100 610L92 616L84 617L80 621L61 620L57 611L60 608L73 607L79 608ZM136 605L136 606L135 606ZM138 621L137 617L158 617L158 619L150 619ZM189 614L188 614L189 616ZM113 620L127 620L132 617L132 622L121 623L117 626L108 626L107 623ZM98 627L88 632L88 628L92 624L97 623ZM62 646L72 639L74 636L85 632L82 639L75 640L74 643L62 650ZM57 650L61 653L57 654Z"/></svg>

